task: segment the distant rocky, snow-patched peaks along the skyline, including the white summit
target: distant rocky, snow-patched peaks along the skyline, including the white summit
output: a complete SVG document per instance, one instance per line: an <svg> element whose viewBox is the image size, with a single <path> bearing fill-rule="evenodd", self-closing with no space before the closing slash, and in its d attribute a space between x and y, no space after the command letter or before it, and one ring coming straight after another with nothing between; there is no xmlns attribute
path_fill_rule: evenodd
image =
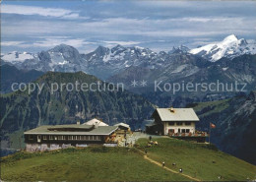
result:
<svg viewBox="0 0 256 182"><path fill-rule="evenodd" d="M244 54L256 54L256 44L248 43L245 39L238 39L234 34L231 34L226 36L223 41L191 50L181 45L173 47L168 52L160 51L157 53L149 48L139 46L116 45L112 48L98 46L91 53L81 54L72 46L60 44L36 54L28 52L1 54L1 60L4 63L13 64L18 69L34 69L42 72L83 71L95 75L101 80L106 80L130 67L139 66L151 70L162 69L167 66L173 67L172 61L176 58L173 55L185 55L193 59L216 62L222 58L233 59ZM173 67L172 71L178 72L185 68L187 68L186 65ZM197 70L193 67L193 71L196 72Z"/></svg>

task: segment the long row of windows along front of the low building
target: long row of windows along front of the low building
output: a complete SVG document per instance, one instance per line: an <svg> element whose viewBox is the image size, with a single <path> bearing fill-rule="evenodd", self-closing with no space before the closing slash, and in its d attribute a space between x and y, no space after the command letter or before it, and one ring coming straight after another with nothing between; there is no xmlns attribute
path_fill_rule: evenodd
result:
<svg viewBox="0 0 256 182"><path fill-rule="evenodd" d="M64 135L42 135L37 136L37 140L41 139L44 141L100 141L100 136L79 136L79 135L70 135L70 136L64 136ZM30 140L33 140L33 136L29 136Z"/></svg>

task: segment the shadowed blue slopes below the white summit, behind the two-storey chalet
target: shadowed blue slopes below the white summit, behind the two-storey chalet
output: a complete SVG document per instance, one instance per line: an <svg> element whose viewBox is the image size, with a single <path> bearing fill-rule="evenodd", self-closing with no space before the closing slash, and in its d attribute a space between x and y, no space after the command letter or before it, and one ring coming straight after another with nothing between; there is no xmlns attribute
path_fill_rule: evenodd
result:
<svg viewBox="0 0 256 182"><path fill-rule="evenodd" d="M229 60L223 58L218 62L209 62L200 57L191 54L171 54L171 61L165 67L159 69L148 69L143 67L129 67L124 71L110 77L107 81L113 83L124 83L126 89L144 95L151 102L161 106L184 107L189 102L211 101L231 97L235 92L253 91L256 87L256 55L242 55ZM138 81L134 87L133 81ZM146 81L147 85L142 86L141 82ZM155 91L155 82L160 83L160 90ZM179 83L182 84L205 83L210 86L211 83L222 83L219 91L213 91L208 88L207 91L180 90L173 93L164 91L164 84ZM238 91L235 90L235 83L238 83ZM227 89L232 88L232 91ZM217 89L215 87L214 89Z"/></svg>

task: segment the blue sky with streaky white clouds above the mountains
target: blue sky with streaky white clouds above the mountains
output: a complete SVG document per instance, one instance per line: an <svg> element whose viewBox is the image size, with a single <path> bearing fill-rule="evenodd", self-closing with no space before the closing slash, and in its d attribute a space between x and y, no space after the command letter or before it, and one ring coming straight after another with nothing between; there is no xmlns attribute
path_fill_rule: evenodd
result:
<svg viewBox="0 0 256 182"><path fill-rule="evenodd" d="M98 45L190 48L236 34L256 39L255 1L3 1L2 52L60 43L81 53Z"/></svg>

